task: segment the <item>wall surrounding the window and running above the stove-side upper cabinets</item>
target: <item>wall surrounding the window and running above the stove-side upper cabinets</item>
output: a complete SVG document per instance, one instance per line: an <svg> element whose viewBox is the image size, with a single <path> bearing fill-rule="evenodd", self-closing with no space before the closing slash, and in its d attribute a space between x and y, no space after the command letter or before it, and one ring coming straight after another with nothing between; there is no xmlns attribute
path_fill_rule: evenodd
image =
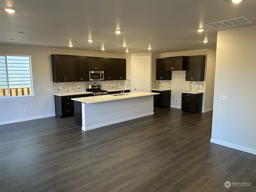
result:
<svg viewBox="0 0 256 192"><path fill-rule="evenodd" d="M0 124L55 116L51 54L125 58L125 54L1 44L1 54L31 55L34 99L1 101ZM40 91L37 90L40 87ZM27 112L24 112L24 109Z"/></svg>

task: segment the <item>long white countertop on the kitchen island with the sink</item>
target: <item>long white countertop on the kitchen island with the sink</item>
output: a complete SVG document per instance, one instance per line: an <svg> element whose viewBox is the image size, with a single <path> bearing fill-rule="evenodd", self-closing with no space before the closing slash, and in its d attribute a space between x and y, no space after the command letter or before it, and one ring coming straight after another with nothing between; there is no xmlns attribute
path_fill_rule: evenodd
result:
<svg viewBox="0 0 256 192"><path fill-rule="evenodd" d="M157 95L159 93L138 91L138 92L130 92L127 94L128 95L119 95L119 96L114 96L115 94L112 94L112 95L81 97L81 98L73 98L72 100L83 102L83 103L98 103L98 102L106 102L106 101L113 101L113 100L129 99L129 98L135 98L135 97L151 96L151 95Z"/></svg>

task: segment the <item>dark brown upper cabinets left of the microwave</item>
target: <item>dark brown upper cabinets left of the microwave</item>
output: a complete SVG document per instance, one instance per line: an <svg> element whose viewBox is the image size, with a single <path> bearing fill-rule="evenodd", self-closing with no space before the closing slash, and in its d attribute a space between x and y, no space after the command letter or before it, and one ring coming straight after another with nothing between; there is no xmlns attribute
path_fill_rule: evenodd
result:
<svg viewBox="0 0 256 192"><path fill-rule="evenodd" d="M52 54L53 82L88 81L87 58Z"/></svg>

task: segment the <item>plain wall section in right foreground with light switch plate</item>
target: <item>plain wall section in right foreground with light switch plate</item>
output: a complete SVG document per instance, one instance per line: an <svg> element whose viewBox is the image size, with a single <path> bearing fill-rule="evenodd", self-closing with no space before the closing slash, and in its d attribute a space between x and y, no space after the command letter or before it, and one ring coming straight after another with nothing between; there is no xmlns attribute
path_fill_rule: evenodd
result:
<svg viewBox="0 0 256 192"><path fill-rule="evenodd" d="M256 25L218 31L211 142L256 154ZM220 96L228 96L227 102Z"/></svg>

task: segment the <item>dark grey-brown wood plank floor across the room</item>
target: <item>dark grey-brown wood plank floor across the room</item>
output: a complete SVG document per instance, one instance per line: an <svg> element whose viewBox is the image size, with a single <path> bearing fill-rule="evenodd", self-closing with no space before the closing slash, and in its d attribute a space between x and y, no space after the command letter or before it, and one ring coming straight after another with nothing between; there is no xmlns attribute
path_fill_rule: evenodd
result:
<svg viewBox="0 0 256 192"><path fill-rule="evenodd" d="M256 191L256 156L210 143L211 124L212 112L155 108L87 132L74 117L2 125L0 191Z"/></svg>

